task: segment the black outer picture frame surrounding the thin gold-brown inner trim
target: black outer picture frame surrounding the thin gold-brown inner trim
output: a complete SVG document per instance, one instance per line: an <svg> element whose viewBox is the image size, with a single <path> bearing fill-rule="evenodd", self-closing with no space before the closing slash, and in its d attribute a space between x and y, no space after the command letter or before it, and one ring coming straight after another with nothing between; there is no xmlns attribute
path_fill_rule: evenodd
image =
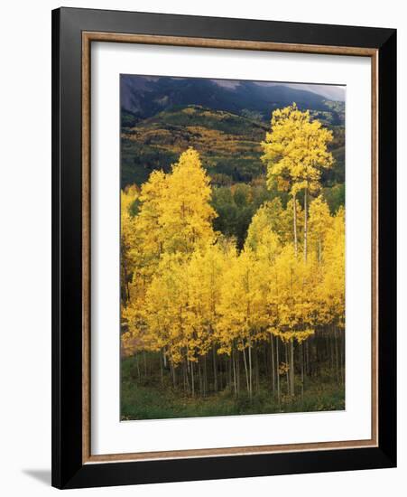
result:
<svg viewBox="0 0 407 497"><path fill-rule="evenodd" d="M360 47L378 54L378 446L83 464L82 33ZM396 31L172 14L52 12L52 485L301 474L396 465Z"/></svg>

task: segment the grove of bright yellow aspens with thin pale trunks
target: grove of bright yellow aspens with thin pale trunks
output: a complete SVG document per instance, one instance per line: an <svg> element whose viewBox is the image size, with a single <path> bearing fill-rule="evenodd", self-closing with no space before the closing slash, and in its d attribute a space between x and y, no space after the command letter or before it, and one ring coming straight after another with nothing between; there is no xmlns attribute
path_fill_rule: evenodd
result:
<svg viewBox="0 0 407 497"><path fill-rule="evenodd" d="M332 132L295 104L262 142L267 187L243 248L214 229L199 153L121 192L121 345L134 382L189 399L227 392L276 411L328 370L345 383L345 209L321 190Z"/></svg>

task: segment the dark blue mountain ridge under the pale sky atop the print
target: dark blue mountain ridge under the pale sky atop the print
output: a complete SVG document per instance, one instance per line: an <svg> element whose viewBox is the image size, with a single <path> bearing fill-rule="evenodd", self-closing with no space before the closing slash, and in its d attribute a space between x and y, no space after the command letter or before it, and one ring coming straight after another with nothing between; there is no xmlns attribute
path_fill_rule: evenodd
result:
<svg viewBox="0 0 407 497"><path fill-rule="evenodd" d="M320 113L333 125L342 125L344 120L343 102L333 102L312 91L283 84L264 86L254 81L238 81L224 86L215 80L123 74L120 85L125 126L175 106L187 105L226 110L269 121L275 108L286 107L292 102L301 109L309 108Z"/></svg>

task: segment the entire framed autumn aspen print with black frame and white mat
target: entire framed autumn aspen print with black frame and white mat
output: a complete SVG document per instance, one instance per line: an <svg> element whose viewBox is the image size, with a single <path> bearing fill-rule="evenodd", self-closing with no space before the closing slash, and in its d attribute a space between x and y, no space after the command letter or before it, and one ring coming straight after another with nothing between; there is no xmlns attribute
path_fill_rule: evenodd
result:
<svg viewBox="0 0 407 497"><path fill-rule="evenodd" d="M52 13L52 484L396 464L396 33Z"/></svg>

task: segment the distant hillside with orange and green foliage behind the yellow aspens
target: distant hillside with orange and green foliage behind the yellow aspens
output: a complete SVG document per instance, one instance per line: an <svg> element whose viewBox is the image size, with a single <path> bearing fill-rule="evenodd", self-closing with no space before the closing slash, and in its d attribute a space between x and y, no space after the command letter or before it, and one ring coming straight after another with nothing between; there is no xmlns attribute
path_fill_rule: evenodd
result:
<svg viewBox="0 0 407 497"><path fill-rule="evenodd" d="M123 126L122 187L145 182L154 169L169 171L189 146L199 151L214 186L249 183L265 173L260 143L269 127L264 121L200 105L175 106ZM344 128L331 128L337 162L324 185L344 181Z"/></svg>

